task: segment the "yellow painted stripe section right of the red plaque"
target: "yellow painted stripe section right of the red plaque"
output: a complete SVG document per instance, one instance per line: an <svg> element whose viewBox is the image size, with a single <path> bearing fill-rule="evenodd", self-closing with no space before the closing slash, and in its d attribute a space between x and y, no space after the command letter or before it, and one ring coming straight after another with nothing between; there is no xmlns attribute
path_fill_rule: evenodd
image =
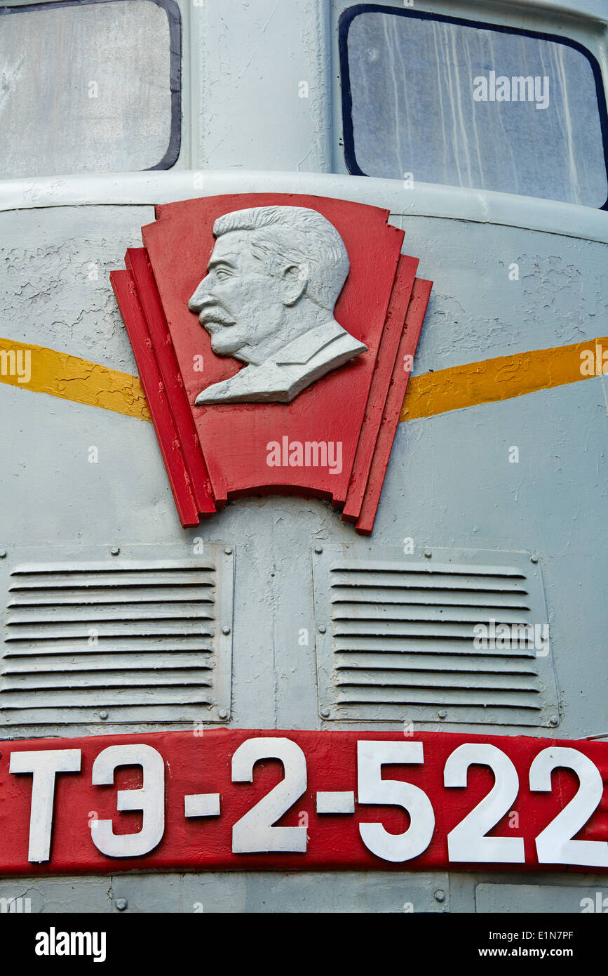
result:
<svg viewBox="0 0 608 976"><path fill-rule="evenodd" d="M400 420L433 417L448 410L495 403L551 386L588 380L589 374L581 372L584 362L581 353L589 350L595 358L596 346L603 346L608 352L608 339L517 352L412 377L405 391Z"/></svg>

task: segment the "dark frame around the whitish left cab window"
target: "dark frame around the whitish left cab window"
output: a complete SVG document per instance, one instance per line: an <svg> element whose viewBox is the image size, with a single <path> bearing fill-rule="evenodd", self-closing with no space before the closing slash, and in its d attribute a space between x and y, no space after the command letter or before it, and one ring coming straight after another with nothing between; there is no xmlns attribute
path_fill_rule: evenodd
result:
<svg viewBox="0 0 608 976"><path fill-rule="evenodd" d="M0 7L0 17L30 11L55 10L57 7L84 7L94 3L125 3L131 0L49 0L48 3L29 3L15 7ZM140 2L140 0L135 0ZM181 148L181 12L175 0L145 0L154 3L167 14L170 44L171 129L165 155L156 166L148 166L140 173L151 170L170 170L179 158ZM105 171L104 171L105 172ZM117 170L108 172L116 173Z"/></svg>

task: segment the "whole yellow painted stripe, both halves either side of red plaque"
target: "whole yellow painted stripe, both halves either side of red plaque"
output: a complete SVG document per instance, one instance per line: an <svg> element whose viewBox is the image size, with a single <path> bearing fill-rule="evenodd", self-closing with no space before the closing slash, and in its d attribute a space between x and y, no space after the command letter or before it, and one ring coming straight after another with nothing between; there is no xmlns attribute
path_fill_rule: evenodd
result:
<svg viewBox="0 0 608 976"><path fill-rule="evenodd" d="M449 410L462 410L587 380L595 373L581 372L581 354L590 351L594 356L596 346L600 347L600 356L602 347L608 352L608 338L518 352L412 377L400 420L433 417ZM27 376L27 352L31 375L28 382L21 382ZM19 372L22 374L24 369L25 377L21 376L19 380ZM0 383L102 407L138 420L151 419L137 377L44 346L0 339Z"/></svg>

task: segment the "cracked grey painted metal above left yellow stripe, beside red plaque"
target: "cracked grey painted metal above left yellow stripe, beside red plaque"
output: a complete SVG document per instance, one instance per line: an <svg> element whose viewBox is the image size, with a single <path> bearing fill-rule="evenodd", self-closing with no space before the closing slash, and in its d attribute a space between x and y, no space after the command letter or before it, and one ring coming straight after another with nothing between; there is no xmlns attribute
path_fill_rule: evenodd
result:
<svg viewBox="0 0 608 976"><path fill-rule="evenodd" d="M153 220L152 207L4 213L3 335L134 373L133 350L109 273L128 247L141 245L139 228Z"/></svg>

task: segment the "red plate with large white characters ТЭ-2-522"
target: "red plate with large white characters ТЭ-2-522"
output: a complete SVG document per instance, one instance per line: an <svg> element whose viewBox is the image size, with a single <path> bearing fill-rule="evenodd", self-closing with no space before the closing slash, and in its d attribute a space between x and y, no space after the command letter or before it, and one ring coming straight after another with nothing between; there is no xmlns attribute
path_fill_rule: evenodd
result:
<svg viewBox="0 0 608 976"><path fill-rule="evenodd" d="M5 742L0 871L608 870L600 742L194 729Z"/></svg>

